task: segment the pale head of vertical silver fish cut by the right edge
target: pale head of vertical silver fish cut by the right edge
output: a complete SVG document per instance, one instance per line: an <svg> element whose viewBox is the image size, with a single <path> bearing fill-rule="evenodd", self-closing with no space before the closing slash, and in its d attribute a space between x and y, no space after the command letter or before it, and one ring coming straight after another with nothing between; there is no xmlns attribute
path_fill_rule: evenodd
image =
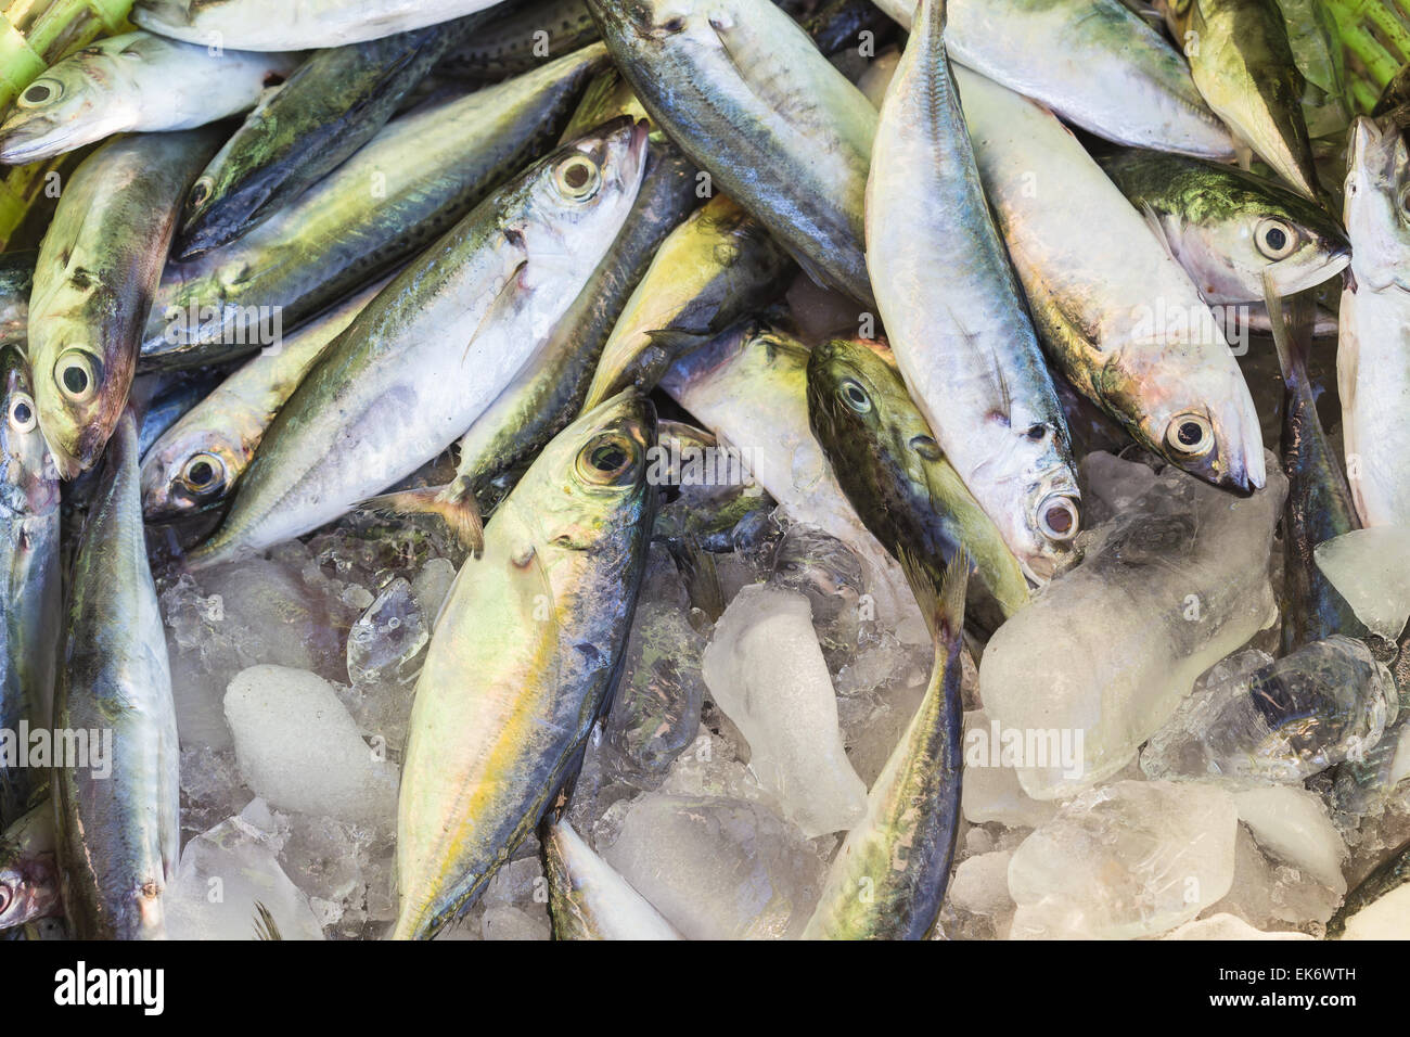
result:
<svg viewBox="0 0 1410 1037"><path fill-rule="evenodd" d="M1394 126L1365 116L1352 124L1345 196L1356 284L1372 289L1410 284L1403 271L1410 250L1410 155Z"/></svg>

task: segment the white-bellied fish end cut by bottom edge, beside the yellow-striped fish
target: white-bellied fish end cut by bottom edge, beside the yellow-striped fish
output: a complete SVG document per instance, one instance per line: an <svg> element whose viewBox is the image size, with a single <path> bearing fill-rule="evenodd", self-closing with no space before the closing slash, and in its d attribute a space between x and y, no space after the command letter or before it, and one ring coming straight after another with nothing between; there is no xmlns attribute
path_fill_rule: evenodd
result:
<svg viewBox="0 0 1410 1037"><path fill-rule="evenodd" d="M546 824L541 839L554 940L685 938L567 821Z"/></svg>

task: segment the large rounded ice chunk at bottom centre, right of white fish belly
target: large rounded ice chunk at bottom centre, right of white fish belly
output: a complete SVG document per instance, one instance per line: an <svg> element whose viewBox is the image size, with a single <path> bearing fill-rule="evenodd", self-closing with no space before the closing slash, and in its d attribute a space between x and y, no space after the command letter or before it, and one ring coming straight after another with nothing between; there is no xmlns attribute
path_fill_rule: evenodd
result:
<svg viewBox="0 0 1410 1037"><path fill-rule="evenodd" d="M797 937L822 861L759 803L646 793L602 858L688 940Z"/></svg>

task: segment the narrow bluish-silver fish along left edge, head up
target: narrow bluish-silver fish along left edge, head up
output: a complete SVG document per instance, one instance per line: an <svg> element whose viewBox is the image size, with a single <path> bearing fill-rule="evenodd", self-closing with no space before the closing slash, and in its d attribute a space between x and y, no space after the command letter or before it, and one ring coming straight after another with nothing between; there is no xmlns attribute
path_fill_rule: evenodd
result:
<svg viewBox="0 0 1410 1037"><path fill-rule="evenodd" d="M0 346L0 731L47 728L54 701L54 656L59 638L59 478L39 435L24 343ZM23 745L23 742L18 742ZM34 775L0 760L0 824L27 803Z"/></svg>

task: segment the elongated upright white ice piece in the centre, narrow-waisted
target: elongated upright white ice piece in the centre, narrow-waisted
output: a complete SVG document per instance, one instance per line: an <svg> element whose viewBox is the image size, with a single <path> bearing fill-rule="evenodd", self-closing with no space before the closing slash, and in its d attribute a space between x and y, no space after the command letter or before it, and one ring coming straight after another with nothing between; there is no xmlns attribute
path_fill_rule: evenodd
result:
<svg viewBox="0 0 1410 1037"><path fill-rule="evenodd" d="M805 597L744 587L715 625L704 676L749 741L760 784L808 838L862 820L867 790L842 746L838 700Z"/></svg>

